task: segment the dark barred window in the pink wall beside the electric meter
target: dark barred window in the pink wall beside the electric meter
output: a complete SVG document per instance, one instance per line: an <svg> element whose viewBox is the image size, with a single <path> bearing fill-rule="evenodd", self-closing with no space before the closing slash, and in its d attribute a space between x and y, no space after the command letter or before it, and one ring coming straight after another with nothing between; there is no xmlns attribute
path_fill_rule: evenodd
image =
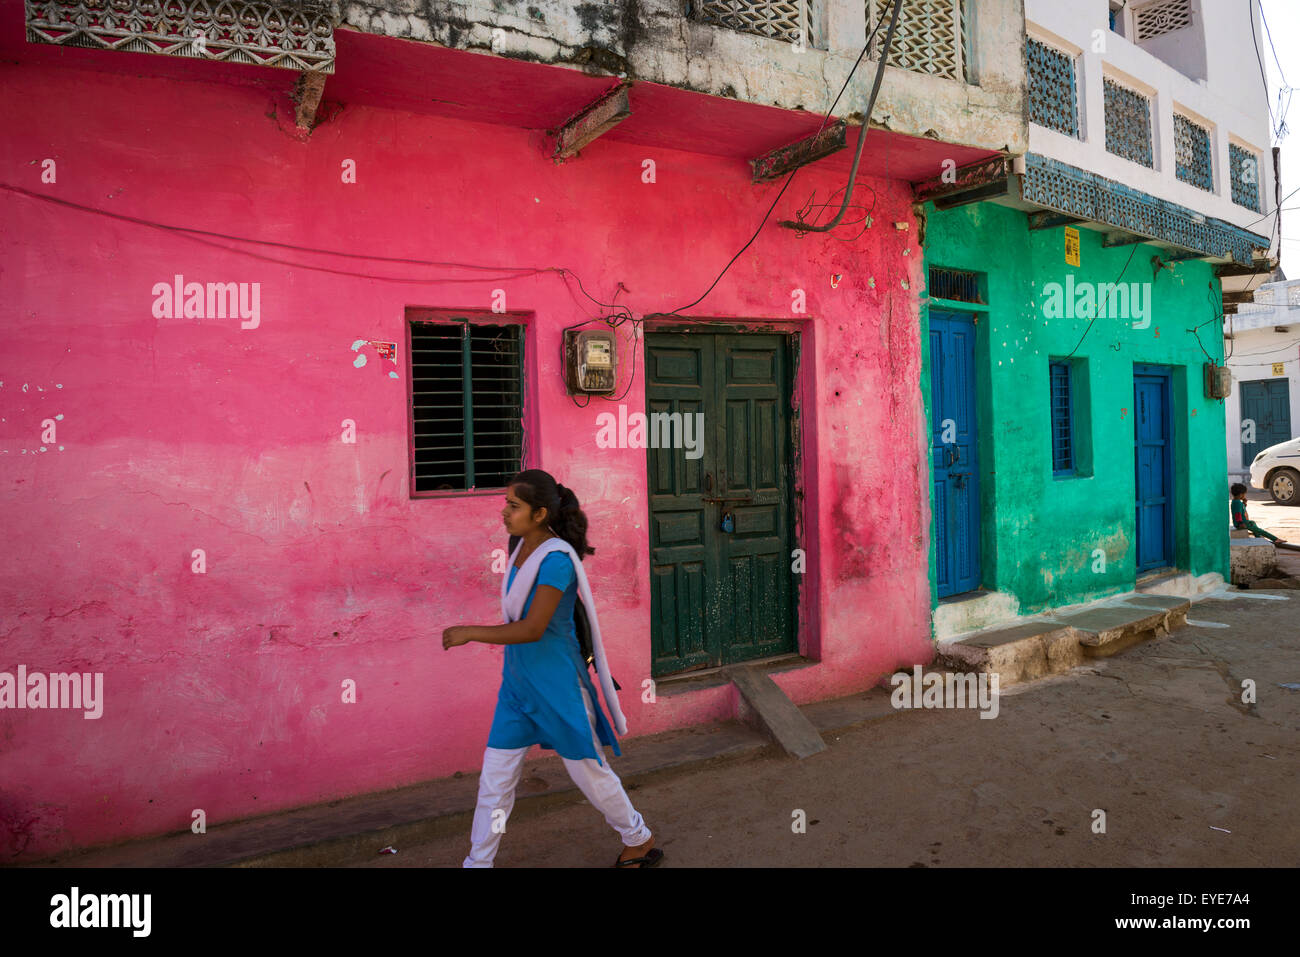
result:
<svg viewBox="0 0 1300 957"><path fill-rule="evenodd" d="M499 489L521 468L524 326L411 320L411 490Z"/></svg>

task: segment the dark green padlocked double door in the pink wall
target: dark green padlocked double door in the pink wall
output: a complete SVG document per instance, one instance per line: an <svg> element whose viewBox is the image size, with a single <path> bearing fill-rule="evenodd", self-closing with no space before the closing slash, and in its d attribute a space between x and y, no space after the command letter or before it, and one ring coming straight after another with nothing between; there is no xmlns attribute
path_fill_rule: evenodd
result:
<svg viewBox="0 0 1300 957"><path fill-rule="evenodd" d="M646 452L656 677L797 650L789 367L784 335L646 334L646 412L703 413L698 458Z"/></svg>

